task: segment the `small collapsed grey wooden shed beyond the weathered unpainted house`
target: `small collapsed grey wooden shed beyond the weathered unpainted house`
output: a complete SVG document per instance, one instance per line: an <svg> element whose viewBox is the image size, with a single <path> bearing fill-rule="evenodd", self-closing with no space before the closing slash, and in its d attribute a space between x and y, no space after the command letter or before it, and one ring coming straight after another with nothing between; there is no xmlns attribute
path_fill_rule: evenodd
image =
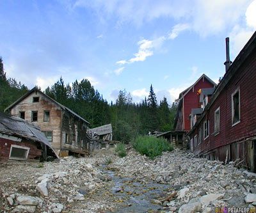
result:
<svg viewBox="0 0 256 213"><path fill-rule="evenodd" d="M100 127L87 130L88 149L90 151L99 150L100 148L109 148L113 146L113 131L111 123Z"/></svg>

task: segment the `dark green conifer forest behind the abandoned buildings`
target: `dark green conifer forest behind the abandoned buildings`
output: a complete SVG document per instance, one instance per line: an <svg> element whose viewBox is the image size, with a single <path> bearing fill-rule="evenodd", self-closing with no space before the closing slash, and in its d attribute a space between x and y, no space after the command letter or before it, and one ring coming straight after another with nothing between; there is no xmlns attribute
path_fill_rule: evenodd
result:
<svg viewBox="0 0 256 213"><path fill-rule="evenodd" d="M15 79L6 79L3 61L0 58L0 111L28 92L28 88ZM40 89L40 88L39 88ZM128 143L140 134L152 130L161 132L172 130L176 104L170 106L166 97L157 104L153 86L148 97L141 103L132 102L131 93L120 90L116 102L108 103L99 91L95 90L88 79L65 84L62 77L44 91L52 99L70 108L91 123L90 127L99 127L108 123L113 127L113 139Z"/></svg>

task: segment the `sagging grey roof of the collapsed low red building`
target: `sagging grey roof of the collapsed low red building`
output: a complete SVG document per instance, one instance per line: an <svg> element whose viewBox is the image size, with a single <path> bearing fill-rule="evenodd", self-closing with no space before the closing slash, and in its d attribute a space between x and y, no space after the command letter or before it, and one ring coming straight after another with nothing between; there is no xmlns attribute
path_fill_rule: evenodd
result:
<svg viewBox="0 0 256 213"><path fill-rule="evenodd" d="M58 157L40 127L27 120L0 112L0 133L44 143Z"/></svg>

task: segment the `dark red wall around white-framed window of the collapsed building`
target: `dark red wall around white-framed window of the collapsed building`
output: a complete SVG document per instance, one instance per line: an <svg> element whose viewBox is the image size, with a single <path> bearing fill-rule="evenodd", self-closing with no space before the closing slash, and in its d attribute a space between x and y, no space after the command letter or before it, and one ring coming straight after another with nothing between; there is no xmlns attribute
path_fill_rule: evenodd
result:
<svg viewBox="0 0 256 213"><path fill-rule="evenodd" d="M18 146L24 146L24 147L30 148L28 159L39 158L42 153L42 150L36 147L37 145L36 142L26 141L26 140L22 140L21 142L16 142L10 139L0 138L0 161L8 161L10 148L12 145L18 145Z"/></svg>

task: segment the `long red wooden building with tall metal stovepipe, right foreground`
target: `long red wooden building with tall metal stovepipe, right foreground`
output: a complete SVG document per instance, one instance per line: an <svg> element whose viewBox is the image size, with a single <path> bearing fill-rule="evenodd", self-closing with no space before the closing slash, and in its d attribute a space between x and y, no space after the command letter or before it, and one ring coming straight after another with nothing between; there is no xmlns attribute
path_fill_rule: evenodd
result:
<svg viewBox="0 0 256 213"><path fill-rule="evenodd" d="M256 171L256 33L231 64L189 132L191 150Z"/></svg>

